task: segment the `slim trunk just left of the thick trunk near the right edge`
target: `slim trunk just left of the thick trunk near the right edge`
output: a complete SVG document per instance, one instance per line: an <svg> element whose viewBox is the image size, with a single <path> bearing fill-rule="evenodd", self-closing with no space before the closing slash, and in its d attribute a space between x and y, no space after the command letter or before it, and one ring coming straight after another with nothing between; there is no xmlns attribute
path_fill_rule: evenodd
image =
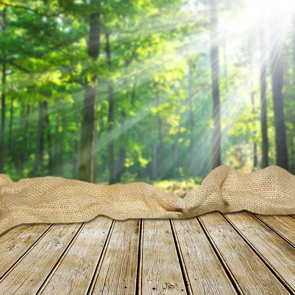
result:
<svg viewBox="0 0 295 295"><path fill-rule="evenodd" d="M264 23L260 20L260 98L261 98L261 131L262 131L262 168L268 166L268 137L267 137L267 111L266 111L266 43Z"/></svg>

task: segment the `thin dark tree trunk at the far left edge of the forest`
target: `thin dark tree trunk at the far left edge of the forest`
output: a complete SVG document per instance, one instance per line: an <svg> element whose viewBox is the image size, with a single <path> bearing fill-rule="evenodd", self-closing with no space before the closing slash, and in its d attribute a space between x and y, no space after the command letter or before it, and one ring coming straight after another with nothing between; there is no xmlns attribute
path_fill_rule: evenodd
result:
<svg viewBox="0 0 295 295"><path fill-rule="evenodd" d="M3 33L6 29L6 8L3 9ZM5 51L5 49L4 49ZM5 52L3 53L5 57ZM4 137L5 137L5 96L6 96L6 62L2 62L2 92L1 92L1 138L0 138L0 173L4 173Z"/></svg>

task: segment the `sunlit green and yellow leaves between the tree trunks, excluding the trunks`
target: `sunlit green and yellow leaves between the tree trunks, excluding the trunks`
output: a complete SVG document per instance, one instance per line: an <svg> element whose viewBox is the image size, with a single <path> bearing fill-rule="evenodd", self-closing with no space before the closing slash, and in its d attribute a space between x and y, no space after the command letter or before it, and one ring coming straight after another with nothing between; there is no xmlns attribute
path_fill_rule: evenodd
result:
<svg viewBox="0 0 295 295"><path fill-rule="evenodd" d="M1 2L0 9L6 9L6 29L0 34L0 62L5 63L7 74L5 173L14 180L34 175L39 103L47 101L49 124L43 122L42 159L37 175L77 177L84 88L87 83L94 86L91 78L97 75L96 181L108 179L108 143L114 140L116 163L120 160L120 147L126 150L122 182L138 179L151 182L156 162L156 178L174 179L154 182L156 186L183 194L200 184L211 170L214 125L209 44L206 38L202 43L203 36L208 35L209 19L206 1L190 2ZM242 5L236 3L229 9L228 2L219 3L220 23L230 24L241 13ZM191 9L191 5L196 6ZM96 61L88 53L89 18L93 12L99 12L101 23L101 46ZM106 32L110 33L111 65L106 56ZM234 32L221 34L219 44L222 162L251 172L260 169L262 154L259 39L255 30L250 36L239 34L238 37ZM283 96L290 171L294 173L292 34L294 31L288 30L285 38ZM107 130L110 82L115 98L111 134ZM164 176L159 172L159 120ZM269 60L267 124L271 165L275 164L275 130ZM7 148L9 142L11 146ZM256 168L254 144L258 156ZM55 165L53 172L49 171L50 151Z"/></svg>

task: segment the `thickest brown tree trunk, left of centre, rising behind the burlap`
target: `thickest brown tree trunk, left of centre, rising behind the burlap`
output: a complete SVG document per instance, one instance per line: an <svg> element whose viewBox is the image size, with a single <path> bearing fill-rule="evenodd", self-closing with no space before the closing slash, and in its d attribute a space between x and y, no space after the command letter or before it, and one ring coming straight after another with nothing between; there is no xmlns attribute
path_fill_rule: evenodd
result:
<svg viewBox="0 0 295 295"><path fill-rule="evenodd" d="M90 31L88 54L93 61L99 56L100 49L100 22L99 13L90 15ZM91 78L94 87L87 84L84 92L83 112L82 112L82 136L81 151L79 160L78 179L93 182L94 169L94 148L95 148L95 119L96 119L96 91L97 75Z"/></svg>

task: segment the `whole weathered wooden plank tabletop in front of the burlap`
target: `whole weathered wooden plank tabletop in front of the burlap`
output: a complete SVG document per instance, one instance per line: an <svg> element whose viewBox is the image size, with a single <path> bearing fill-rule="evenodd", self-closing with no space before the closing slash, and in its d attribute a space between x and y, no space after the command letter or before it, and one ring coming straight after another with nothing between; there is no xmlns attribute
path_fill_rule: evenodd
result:
<svg viewBox="0 0 295 295"><path fill-rule="evenodd" d="M18 226L0 236L2 295L295 294L295 218Z"/></svg>

